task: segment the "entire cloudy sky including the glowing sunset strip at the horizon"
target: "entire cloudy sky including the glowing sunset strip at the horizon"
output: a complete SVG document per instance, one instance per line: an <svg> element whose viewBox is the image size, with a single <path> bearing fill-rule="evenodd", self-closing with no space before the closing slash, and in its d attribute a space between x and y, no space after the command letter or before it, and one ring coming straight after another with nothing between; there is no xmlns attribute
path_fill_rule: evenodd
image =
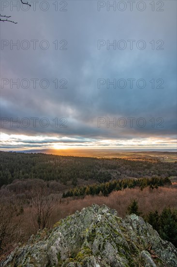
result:
<svg viewBox="0 0 177 267"><path fill-rule="evenodd" d="M175 150L177 2L29 3L0 6L1 150Z"/></svg>

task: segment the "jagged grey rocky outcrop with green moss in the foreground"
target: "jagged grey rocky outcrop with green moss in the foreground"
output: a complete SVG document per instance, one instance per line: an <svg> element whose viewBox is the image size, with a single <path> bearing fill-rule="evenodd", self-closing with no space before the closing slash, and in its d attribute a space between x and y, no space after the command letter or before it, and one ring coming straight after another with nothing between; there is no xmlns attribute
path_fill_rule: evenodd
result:
<svg viewBox="0 0 177 267"><path fill-rule="evenodd" d="M134 214L92 205L32 235L0 267L177 267L177 249Z"/></svg>

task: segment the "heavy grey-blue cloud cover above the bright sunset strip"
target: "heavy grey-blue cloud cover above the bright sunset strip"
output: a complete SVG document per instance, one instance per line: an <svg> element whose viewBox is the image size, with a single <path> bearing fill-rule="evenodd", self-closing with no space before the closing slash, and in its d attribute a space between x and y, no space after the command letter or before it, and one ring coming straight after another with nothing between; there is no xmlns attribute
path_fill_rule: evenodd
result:
<svg viewBox="0 0 177 267"><path fill-rule="evenodd" d="M50 124L43 127L19 128L10 123L1 129L8 134L72 136L96 139L132 139L138 137L174 136L176 133L176 2L165 1L163 12L147 10L140 12L97 11L97 1L68 1L67 12L54 12L52 8L43 12L15 10L12 12L18 24L1 25L1 39L29 40L28 50L1 50L1 78L3 79L47 79L49 87L34 89L32 82L27 89L15 85L1 88L1 117L48 118ZM8 11L8 10L7 10ZM6 12L7 13L7 12ZM9 14L11 12L9 11ZM12 15L11 14L11 15ZM32 49L30 40L47 40L49 49L37 45ZM146 49L98 50L98 40L145 40ZM55 50L55 40L67 40L67 50ZM150 41L163 40L164 50L152 50ZM110 47L111 48L111 47ZM98 88L98 79L144 79L146 87ZM55 79L66 79L67 88L55 88ZM155 80L155 88L151 81ZM156 88L162 79L164 88ZM136 83L135 81L135 83ZM59 84L60 85L60 84ZM67 127L55 127L53 119L67 118ZM98 118L110 121L123 117L139 117L146 120L141 128L136 123L121 128L104 123L98 127ZM150 119L155 119L152 127ZM157 128L158 118L163 127ZM84 140L84 139L83 139ZM24 141L26 142L26 141ZM32 141L33 142L33 141ZM35 141L34 141L35 142ZM37 141L36 141L37 142ZM55 141L53 141L55 142ZM65 141L66 142L66 141ZM29 142L30 143L30 142Z"/></svg>

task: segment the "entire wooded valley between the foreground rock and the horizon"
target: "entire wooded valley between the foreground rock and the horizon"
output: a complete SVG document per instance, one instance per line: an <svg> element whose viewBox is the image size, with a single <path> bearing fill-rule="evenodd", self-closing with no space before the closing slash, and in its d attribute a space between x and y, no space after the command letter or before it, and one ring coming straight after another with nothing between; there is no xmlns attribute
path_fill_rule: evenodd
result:
<svg viewBox="0 0 177 267"><path fill-rule="evenodd" d="M177 196L176 177L177 162L162 162L155 157L131 160L1 151L0 257L19 243L25 244L39 229L53 227L60 218L77 209L92 203L101 204L99 198L115 208L120 217L125 216L130 202L126 194L130 192L133 198L137 195L140 199L146 192L148 201L141 207L141 216L162 238L177 246L174 239L177 200L171 198ZM127 201L122 205L112 201L114 194L125 194L123 199ZM109 196L111 201L107 203ZM152 203L157 206L159 202L163 202L166 210L154 210ZM129 211L132 209L134 207ZM173 236L169 226L173 228Z"/></svg>

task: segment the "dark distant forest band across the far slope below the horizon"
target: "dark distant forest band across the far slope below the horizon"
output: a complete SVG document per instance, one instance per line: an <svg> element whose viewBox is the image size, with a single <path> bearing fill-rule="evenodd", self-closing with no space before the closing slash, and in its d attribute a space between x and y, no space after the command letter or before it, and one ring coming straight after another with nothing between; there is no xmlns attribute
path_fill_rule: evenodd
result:
<svg viewBox="0 0 177 267"><path fill-rule="evenodd" d="M157 158L130 160L123 158L91 158L58 156L42 153L0 151L0 186L15 179L59 181L74 186L78 179L105 183L124 178L165 178L177 176L177 162L161 162Z"/></svg>

